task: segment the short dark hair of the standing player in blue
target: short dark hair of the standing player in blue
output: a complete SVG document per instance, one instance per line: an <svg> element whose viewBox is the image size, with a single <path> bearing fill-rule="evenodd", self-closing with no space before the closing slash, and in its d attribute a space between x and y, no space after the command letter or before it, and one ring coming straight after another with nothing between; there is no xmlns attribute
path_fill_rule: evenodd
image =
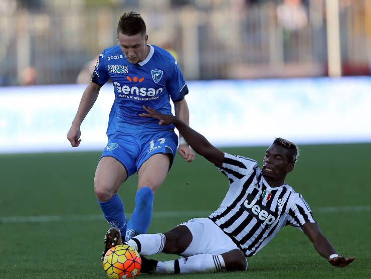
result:
<svg viewBox="0 0 371 279"><path fill-rule="evenodd" d="M147 33L143 18L135 12L125 13L121 16L117 25L117 36L119 32L127 36L139 33L144 36Z"/></svg>

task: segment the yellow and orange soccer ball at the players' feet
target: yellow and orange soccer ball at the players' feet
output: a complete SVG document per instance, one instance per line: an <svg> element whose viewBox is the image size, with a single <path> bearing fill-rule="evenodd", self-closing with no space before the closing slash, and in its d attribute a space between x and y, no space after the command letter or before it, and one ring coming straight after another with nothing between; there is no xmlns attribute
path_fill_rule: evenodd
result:
<svg viewBox="0 0 371 279"><path fill-rule="evenodd" d="M131 246L113 246L104 255L103 268L109 278L135 278L139 275L142 260Z"/></svg>

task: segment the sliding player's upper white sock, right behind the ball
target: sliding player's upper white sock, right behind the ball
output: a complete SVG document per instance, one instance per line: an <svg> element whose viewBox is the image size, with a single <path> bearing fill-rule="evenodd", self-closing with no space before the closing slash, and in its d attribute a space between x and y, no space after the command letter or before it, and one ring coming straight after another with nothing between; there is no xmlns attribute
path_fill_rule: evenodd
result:
<svg viewBox="0 0 371 279"><path fill-rule="evenodd" d="M128 241L128 244L135 248L143 256L153 255L162 252L165 246L165 235L156 234L139 234Z"/></svg>

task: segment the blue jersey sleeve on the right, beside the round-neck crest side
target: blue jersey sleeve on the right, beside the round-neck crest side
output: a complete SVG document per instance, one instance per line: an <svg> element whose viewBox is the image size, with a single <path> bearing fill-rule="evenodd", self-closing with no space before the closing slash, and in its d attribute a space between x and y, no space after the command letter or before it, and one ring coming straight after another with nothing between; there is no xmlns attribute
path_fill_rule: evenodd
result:
<svg viewBox="0 0 371 279"><path fill-rule="evenodd" d="M169 77L167 81L167 92L169 92L171 100L174 102L181 101L188 94L188 87L181 73L178 63L174 58L169 67Z"/></svg>

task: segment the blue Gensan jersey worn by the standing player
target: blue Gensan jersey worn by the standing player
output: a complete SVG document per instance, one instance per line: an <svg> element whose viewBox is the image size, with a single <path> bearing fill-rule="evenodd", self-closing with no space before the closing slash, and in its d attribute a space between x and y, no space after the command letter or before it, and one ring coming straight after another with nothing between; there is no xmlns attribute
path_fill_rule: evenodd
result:
<svg viewBox="0 0 371 279"><path fill-rule="evenodd" d="M160 126L158 120L140 117L142 105L171 114L170 98L181 101L188 87L176 60L167 51L151 46L147 58L131 64L120 46L105 49L98 58L92 81L98 85L112 80L115 101L109 115L107 135L131 130L168 130L173 125Z"/></svg>

